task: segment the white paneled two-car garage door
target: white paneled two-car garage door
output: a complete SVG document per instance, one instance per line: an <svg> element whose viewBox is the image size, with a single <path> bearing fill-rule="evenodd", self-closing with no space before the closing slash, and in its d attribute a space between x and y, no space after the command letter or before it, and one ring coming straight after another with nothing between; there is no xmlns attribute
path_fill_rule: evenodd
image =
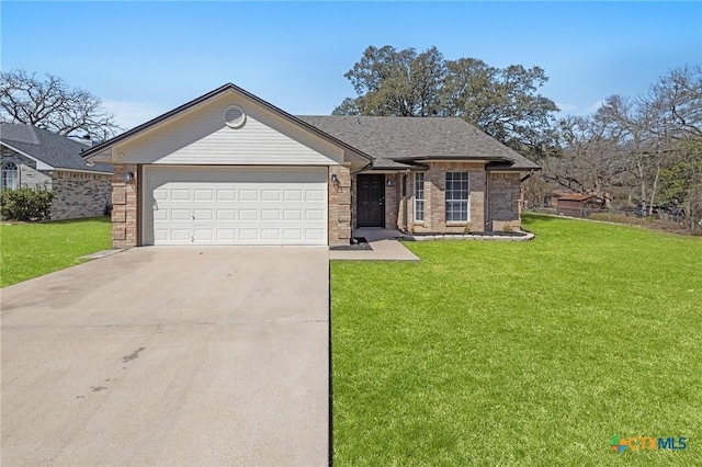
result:
<svg viewBox="0 0 702 467"><path fill-rule="evenodd" d="M145 244L327 244L327 168L147 167Z"/></svg>

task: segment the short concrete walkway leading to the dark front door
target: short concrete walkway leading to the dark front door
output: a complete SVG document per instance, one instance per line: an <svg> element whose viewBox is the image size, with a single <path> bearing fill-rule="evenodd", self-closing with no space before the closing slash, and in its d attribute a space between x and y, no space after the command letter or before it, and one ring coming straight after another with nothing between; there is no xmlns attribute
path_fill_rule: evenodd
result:
<svg viewBox="0 0 702 467"><path fill-rule="evenodd" d="M364 237L372 250L329 251L330 260L349 261L419 261L419 258L397 241L399 230L382 227L362 227L353 230L353 237Z"/></svg>

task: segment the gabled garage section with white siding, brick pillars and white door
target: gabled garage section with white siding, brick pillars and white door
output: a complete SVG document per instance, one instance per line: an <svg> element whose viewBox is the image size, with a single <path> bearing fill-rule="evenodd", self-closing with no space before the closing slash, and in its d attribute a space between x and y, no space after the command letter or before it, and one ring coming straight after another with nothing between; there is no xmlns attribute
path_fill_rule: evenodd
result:
<svg viewBox="0 0 702 467"><path fill-rule="evenodd" d="M113 164L114 248L349 244L372 160L231 83L82 156Z"/></svg>

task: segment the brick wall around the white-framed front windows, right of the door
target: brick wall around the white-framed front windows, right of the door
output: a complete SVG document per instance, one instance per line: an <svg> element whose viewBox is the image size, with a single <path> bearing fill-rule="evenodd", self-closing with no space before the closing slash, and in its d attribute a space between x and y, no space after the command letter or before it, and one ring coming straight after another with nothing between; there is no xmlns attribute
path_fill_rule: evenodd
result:
<svg viewBox="0 0 702 467"><path fill-rule="evenodd" d="M468 172L468 221L471 231L483 232L485 226L485 166L476 162L429 162L424 172L424 220L414 221L414 175L409 183L408 214L416 232L463 234L468 223L446 223L446 172Z"/></svg>

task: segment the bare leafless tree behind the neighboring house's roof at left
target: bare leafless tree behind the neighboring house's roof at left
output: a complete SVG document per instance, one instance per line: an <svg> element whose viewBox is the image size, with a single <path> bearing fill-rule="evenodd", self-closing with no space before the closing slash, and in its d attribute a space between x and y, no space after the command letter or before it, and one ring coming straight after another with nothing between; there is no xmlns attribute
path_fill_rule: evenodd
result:
<svg viewBox="0 0 702 467"><path fill-rule="evenodd" d="M24 123L63 136L106 139L121 128L102 101L61 78L24 70L0 72L0 121Z"/></svg>

